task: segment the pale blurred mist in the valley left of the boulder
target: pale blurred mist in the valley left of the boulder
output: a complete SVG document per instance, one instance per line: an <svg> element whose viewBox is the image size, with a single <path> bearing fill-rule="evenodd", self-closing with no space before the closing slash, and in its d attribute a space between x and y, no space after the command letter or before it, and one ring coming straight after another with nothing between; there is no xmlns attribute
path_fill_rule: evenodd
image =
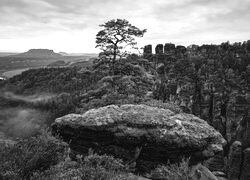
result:
<svg viewBox="0 0 250 180"><path fill-rule="evenodd" d="M6 136L20 138L33 136L46 129L48 121L53 118L49 110L41 109L39 106L55 98L55 94L22 96L3 92L0 97L11 104L10 107L1 107L0 110L0 131Z"/></svg>

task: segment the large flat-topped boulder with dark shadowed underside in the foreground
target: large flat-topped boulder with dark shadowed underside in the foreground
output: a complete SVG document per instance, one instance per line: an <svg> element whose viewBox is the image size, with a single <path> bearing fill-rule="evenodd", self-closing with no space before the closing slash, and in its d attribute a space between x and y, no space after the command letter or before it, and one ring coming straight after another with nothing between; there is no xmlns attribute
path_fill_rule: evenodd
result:
<svg viewBox="0 0 250 180"><path fill-rule="evenodd" d="M152 164L214 156L226 141L204 120L148 105L110 105L55 120L54 132L73 150L112 154L148 169Z"/></svg>

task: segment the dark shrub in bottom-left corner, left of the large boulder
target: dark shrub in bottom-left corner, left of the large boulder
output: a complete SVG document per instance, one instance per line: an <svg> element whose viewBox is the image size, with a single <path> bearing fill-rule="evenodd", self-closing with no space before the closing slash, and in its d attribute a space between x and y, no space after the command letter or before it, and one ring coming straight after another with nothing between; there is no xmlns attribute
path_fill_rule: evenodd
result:
<svg viewBox="0 0 250 180"><path fill-rule="evenodd" d="M67 145L43 131L37 137L18 140L12 146L0 147L0 174L4 179L29 179L63 159Z"/></svg>

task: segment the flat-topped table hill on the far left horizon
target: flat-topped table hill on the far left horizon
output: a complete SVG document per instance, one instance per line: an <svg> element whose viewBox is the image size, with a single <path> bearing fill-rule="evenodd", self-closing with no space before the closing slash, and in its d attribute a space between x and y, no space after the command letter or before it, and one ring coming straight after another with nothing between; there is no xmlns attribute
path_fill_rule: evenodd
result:
<svg viewBox="0 0 250 180"><path fill-rule="evenodd" d="M61 58L62 55L49 49L30 49L25 53L13 55L12 57L22 58Z"/></svg>

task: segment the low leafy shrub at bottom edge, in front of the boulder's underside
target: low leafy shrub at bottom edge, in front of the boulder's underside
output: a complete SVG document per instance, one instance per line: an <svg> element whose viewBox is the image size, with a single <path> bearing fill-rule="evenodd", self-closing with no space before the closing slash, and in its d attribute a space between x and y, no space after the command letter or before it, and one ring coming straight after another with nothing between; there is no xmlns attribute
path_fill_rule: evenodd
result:
<svg viewBox="0 0 250 180"><path fill-rule="evenodd" d="M112 156L91 154L77 162L66 159L44 172L34 173L32 180L136 180L127 166Z"/></svg>

